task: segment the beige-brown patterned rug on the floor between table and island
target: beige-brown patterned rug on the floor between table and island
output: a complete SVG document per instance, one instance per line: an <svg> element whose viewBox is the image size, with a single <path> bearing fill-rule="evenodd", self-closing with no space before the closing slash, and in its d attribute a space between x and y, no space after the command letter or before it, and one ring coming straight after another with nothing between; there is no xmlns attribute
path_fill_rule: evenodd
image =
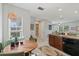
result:
<svg viewBox="0 0 79 59"><path fill-rule="evenodd" d="M51 46L42 46L40 48L37 48L34 53L37 56L70 56L63 51L60 51L54 47Z"/></svg>

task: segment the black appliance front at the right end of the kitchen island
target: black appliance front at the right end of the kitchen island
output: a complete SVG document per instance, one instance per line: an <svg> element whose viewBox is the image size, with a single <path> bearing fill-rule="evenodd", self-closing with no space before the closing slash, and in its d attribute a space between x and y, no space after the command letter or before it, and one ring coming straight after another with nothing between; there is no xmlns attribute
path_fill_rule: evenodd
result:
<svg viewBox="0 0 79 59"><path fill-rule="evenodd" d="M63 51L72 55L79 56L79 40L75 39L66 39L63 44Z"/></svg>

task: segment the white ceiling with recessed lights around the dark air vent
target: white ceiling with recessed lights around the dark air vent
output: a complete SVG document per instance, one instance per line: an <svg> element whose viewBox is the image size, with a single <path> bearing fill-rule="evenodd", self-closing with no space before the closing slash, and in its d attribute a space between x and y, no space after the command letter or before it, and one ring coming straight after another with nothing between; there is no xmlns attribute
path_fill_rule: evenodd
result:
<svg viewBox="0 0 79 59"><path fill-rule="evenodd" d="M79 3L12 3L31 12L32 16L53 22L79 20ZM44 10L38 10L38 7Z"/></svg>

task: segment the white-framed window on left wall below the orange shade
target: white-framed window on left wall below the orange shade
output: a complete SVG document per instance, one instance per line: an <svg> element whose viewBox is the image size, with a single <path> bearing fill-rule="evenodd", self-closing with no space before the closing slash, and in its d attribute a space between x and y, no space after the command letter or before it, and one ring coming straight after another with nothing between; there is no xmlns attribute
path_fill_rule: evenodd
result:
<svg viewBox="0 0 79 59"><path fill-rule="evenodd" d="M23 37L23 18L17 18L15 20L9 20L9 39L14 37Z"/></svg>

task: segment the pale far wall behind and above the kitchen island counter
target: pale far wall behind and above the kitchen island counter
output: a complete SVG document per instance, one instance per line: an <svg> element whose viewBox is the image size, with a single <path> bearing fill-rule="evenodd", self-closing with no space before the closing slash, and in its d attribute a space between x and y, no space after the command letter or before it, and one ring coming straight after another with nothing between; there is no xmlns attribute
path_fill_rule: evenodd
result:
<svg viewBox="0 0 79 59"><path fill-rule="evenodd" d="M48 29L48 25L52 25L52 30ZM65 29L64 30L64 26L68 26L69 29ZM74 20L74 21L70 21L70 22L64 22L62 24L52 24L51 22L47 21L47 25L45 24L45 28L47 28L47 30L45 30L45 35L47 36L48 34L51 34L52 32L71 32L74 34L79 34L79 31L76 30L76 26L79 26L79 20ZM71 27L74 27L75 29L71 30ZM62 29L61 29L62 28Z"/></svg>

